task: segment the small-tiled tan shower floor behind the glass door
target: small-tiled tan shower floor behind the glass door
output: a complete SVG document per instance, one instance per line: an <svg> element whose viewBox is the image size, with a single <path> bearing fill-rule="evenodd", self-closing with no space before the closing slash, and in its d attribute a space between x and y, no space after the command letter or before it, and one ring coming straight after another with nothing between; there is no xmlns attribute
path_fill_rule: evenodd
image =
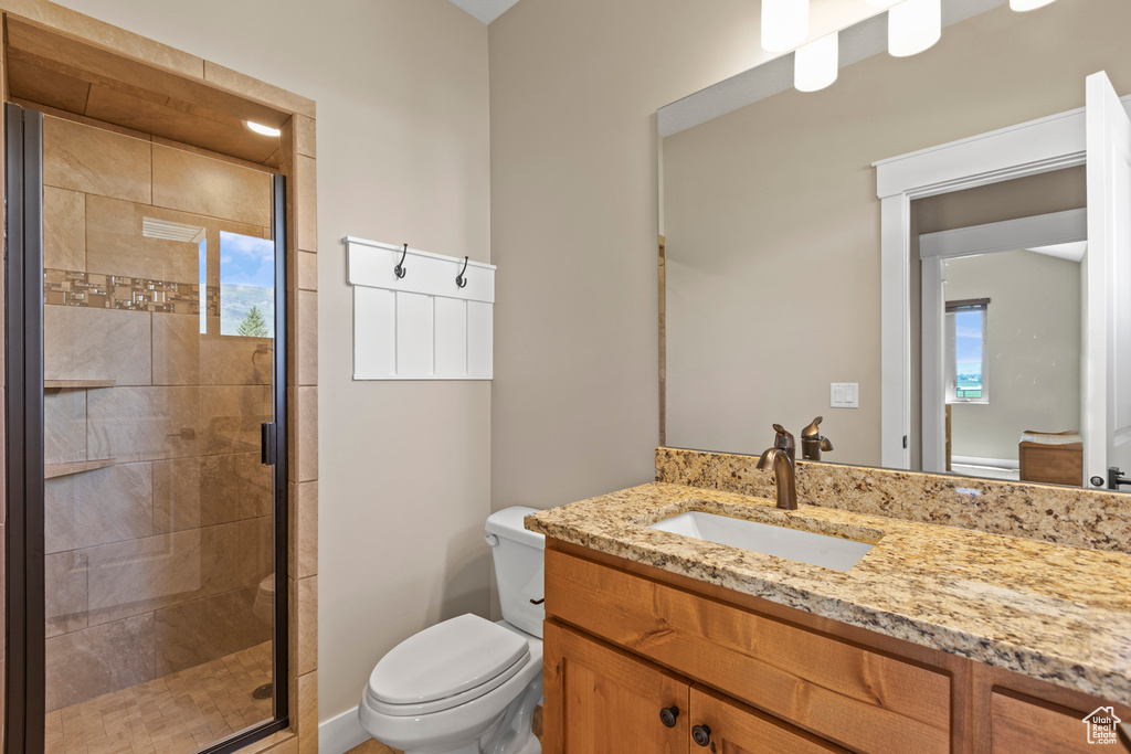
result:
<svg viewBox="0 0 1131 754"><path fill-rule="evenodd" d="M190 754L265 722L271 700L265 642L205 665L48 713L46 754Z"/></svg>

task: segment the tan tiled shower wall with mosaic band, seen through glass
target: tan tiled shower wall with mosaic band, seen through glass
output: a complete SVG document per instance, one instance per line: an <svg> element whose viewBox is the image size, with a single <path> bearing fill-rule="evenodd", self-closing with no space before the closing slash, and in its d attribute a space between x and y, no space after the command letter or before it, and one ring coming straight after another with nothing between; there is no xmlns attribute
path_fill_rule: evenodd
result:
<svg viewBox="0 0 1131 754"><path fill-rule="evenodd" d="M266 173L44 123L48 710L270 639L267 338L219 335L219 233L270 237ZM205 228L145 237L143 218ZM207 333L200 332L200 307Z"/></svg>

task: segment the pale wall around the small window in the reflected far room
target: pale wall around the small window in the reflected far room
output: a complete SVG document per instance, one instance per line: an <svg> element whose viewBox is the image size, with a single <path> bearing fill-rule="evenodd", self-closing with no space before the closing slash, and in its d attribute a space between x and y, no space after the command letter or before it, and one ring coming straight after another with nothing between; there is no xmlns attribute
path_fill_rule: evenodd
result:
<svg viewBox="0 0 1131 754"><path fill-rule="evenodd" d="M947 301L990 298L987 404L951 407L955 456L1017 461L1021 433L1080 430L1080 263L1030 251L947 261Z"/></svg>

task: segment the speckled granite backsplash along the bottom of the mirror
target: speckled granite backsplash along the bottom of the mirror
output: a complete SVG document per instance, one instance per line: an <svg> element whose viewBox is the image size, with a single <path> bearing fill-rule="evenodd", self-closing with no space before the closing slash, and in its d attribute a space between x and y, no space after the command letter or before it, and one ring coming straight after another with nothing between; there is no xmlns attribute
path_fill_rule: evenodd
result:
<svg viewBox="0 0 1131 754"><path fill-rule="evenodd" d="M656 482L774 499L757 456L656 449ZM1131 495L797 461L797 497L810 505L973 529L1056 545L1131 553Z"/></svg>

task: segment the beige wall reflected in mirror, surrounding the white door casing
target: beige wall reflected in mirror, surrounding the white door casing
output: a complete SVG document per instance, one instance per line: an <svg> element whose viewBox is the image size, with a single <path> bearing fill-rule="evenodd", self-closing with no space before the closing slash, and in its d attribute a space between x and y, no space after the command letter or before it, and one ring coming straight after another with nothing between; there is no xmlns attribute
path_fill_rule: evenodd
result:
<svg viewBox="0 0 1131 754"><path fill-rule="evenodd" d="M1002 6L927 53L881 54L823 92L785 92L665 139L668 444L760 452L771 422L796 432L823 414L829 460L878 463L872 163L1082 106L1085 77L1105 67L1131 92L1113 19L1131 21L1131 6ZM861 407L830 409L830 382L860 382Z"/></svg>

